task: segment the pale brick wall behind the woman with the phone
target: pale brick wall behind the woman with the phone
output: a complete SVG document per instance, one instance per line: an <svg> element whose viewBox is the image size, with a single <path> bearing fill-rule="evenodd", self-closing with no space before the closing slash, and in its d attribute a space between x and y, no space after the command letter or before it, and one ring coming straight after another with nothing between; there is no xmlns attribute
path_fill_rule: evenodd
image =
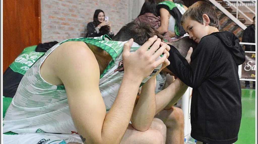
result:
<svg viewBox="0 0 258 144"><path fill-rule="evenodd" d="M41 0L42 43L83 37L96 9L109 17L115 33L129 21L127 0Z"/></svg>

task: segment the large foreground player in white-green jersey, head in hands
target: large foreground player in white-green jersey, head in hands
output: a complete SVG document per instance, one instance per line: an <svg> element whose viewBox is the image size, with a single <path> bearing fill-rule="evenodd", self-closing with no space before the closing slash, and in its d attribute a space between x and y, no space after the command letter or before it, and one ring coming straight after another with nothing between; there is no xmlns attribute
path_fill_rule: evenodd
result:
<svg viewBox="0 0 258 144"><path fill-rule="evenodd" d="M101 48L105 44L87 38L64 41L39 58L22 78L4 118L5 143L55 140L55 143L164 143L162 132L166 132L166 127L161 120L150 116L149 128L144 126L141 131L132 126L140 122L128 123L143 79L169 64L169 47L152 27L138 23L127 26L130 24L131 33L124 28L125 33L118 32L117 39L114 37L114 40L127 42L123 53L119 54L123 57L123 77L119 80L121 84L109 110L100 83L106 76L102 74L114 61L115 49L106 51L106 47ZM140 31L145 33L145 37L136 41L139 37L136 33ZM132 39L125 40L124 34L132 36ZM134 40L142 46L130 52L135 48L131 47ZM160 57L162 54L163 57ZM160 65L162 67L155 70ZM151 83L153 80L148 81L150 85L154 85ZM112 79L106 83L109 81ZM111 90L112 87L107 85L106 91L111 94ZM152 97L151 100L154 99ZM138 102L137 105L140 104ZM152 115L155 111L155 107L150 109ZM6 132L13 132L13 135Z"/></svg>

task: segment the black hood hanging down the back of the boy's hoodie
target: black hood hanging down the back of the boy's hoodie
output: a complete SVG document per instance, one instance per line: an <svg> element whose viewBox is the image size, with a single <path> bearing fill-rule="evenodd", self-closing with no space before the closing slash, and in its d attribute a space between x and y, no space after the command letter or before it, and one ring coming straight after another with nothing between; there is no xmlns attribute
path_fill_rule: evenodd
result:
<svg viewBox="0 0 258 144"><path fill-rule="evenodd" d="M241 65L245 62L245 51L239 44L240 40L235 36L235 34L229 31L224 31L214 32L212 35L215 35L222 41L222 43L230 51L237 65Z"/></svg>

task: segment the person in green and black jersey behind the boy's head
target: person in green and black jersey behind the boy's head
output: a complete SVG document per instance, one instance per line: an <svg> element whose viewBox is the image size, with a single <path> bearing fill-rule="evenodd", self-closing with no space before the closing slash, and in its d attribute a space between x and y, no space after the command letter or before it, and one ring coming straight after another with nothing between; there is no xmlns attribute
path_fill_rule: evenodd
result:
<svg viewBox="0 0 258 144"><path fill-rule="evenodd" d="M180 25L180 21L182 14L184 14L186 11L186 8L181 4L174 3L172 0L158 1L160 2L157 5L160 15L160 27L157 29L158 32L163 34L164 38L168 42L176 41L182 38L186 32Z"/></svg>

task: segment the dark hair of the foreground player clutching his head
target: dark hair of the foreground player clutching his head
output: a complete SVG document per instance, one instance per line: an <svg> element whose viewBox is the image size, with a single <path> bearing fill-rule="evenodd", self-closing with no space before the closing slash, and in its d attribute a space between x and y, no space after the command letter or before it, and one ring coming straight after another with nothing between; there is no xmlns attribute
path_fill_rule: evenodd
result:
<svg viewBox="0 0 258 144"><path fill-rule="evenodd" d="M133 38L133 41L139 45L143 45L149 38L157 35L163 40L163 36L146 22L132 21L124 25L119 32L113 37L112 41L128 41Z"/></svg>

